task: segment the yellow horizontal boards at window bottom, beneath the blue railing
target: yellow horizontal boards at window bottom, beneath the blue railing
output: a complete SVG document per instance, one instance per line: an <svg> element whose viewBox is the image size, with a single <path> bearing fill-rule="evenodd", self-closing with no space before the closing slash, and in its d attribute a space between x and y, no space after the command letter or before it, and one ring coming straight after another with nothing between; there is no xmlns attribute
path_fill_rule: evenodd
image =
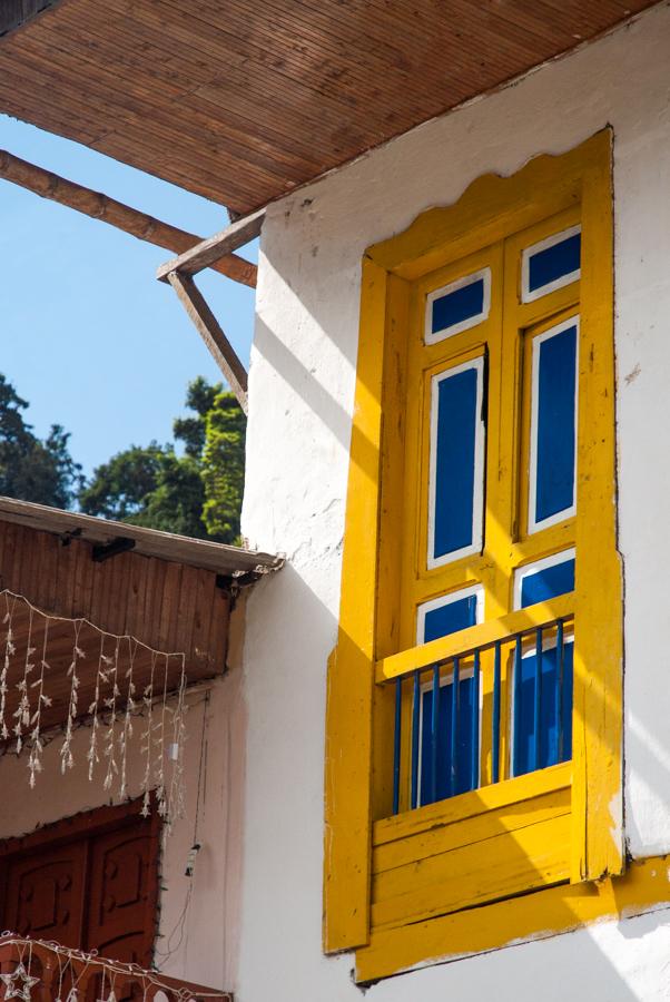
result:
<svg viewBox="0 0 670 1002"><path fill-rule="evenodd" d="M470 845L418 858L373 877L373 930L404 925L431 915L495 901L570 876L569 805L529 812L528 826L513 831L499 822L497 834ZM486 819L479 822L484 828ZM445 841L449 846L449 839Z"/></svg>

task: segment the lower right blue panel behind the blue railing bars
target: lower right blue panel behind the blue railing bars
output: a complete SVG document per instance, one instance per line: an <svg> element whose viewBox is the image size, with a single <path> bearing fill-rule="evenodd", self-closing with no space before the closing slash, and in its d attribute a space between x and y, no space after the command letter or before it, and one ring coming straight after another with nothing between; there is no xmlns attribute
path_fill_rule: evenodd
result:
<svg viewBox="0 0 670 1002"><path fill-rule="evenodd" d="M573 644L563 646L563 698L559 726L559 678L556 648L542 651L542 694L540 705L540 747L538 767L568 762L572 756L572 662ZM521 691L514 694L516 716L514 718L513 764L514 775L531 773L535 763L535 740L533 718L535 705L535 665L536 656L529 655L521 659ZM562 735L561 735L562 731ZM562 754L560 738L562 736Z"/></svg>

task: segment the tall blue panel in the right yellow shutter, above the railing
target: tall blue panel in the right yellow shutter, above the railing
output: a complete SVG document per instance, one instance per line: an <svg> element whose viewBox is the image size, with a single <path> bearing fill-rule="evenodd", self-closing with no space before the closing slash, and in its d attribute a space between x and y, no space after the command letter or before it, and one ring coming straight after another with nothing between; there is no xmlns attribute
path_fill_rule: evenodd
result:
<svg viewBox="0 0 670 1002"><path fill-rule="evenodd" d="M536 350L535 522L542 522L574 500L577 325L540 342Z"/></svg>

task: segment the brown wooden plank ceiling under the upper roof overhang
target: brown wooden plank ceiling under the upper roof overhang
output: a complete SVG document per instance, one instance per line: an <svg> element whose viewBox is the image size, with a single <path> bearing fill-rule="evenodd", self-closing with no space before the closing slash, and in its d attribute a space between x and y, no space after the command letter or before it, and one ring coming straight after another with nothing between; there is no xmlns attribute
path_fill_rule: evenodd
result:
<svg viewBox="0 0 670 1002"><path fill-rule="evenodd" d="M653 2L60 0L0 110L247 213Z"/></svg>

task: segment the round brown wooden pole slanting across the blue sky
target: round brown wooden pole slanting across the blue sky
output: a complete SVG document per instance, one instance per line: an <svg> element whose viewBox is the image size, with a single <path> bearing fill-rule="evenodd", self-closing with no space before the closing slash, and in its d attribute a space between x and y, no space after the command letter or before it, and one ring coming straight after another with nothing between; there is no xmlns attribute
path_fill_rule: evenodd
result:
<svg viewBox="0 0 670 1002"><path fill-rule="evenodd" d="M108 198L107 195L92 191L83 185L45 170L43 167L21 160L7 150L0 150L0 178L20 185L42 198L50 198L78 213L91 216L93 219L109 223L110 226L116 226L117 229L122 229L124 233L129 233L140 240L157 244L167 250L175 250L177 254L184 254L189 248L198 249L203 243L207 243L193 233L178 229L176 226L170 226L169 223L161 223L160 219L155 219L154 216L140 213L114 198ZM250 288L256 287L256 265L245 261L244 257L224 252L217 261L211 263L211 267L235 282L240 282Z"/></svg>

